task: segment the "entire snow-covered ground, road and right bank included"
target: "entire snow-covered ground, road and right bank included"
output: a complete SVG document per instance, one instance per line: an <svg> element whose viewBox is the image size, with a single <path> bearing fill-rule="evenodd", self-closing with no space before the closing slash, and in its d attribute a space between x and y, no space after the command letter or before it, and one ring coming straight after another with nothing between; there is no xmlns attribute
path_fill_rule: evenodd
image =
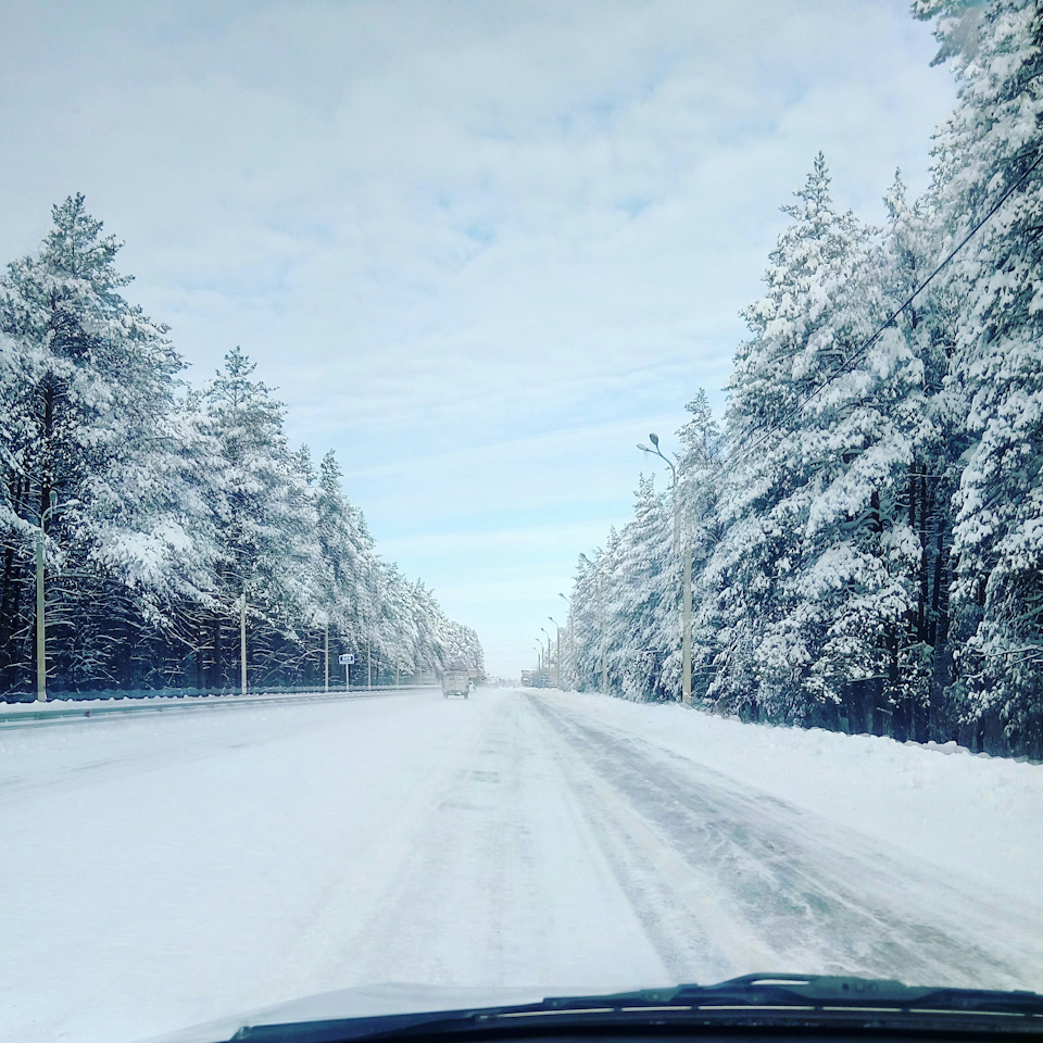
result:
<svg viewBox="0 0 1043 1043"><path fill-rule="evenodd" d="M1043 990L1043 768L479 690L0 731L0 1035L382 981Z"/></svg>

